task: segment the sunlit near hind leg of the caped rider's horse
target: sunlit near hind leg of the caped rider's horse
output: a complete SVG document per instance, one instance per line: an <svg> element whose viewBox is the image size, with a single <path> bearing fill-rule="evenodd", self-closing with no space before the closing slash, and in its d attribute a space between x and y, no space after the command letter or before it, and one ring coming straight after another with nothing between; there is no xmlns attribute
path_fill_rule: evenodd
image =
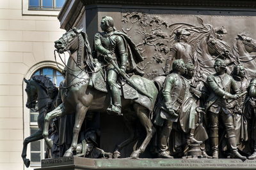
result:
<svg viewBox="0 0 256 170"><path fill-rule="evenodd" d="M131 158L137 159L140 156L140 153L143 153L145 151L145 149L147 148L148 143L150 142L150 140L156 130L153 127L153 124L150 120L149 111L147 110L147 108L141 106L140 104L134 104L134 110L137 113L140 123L143 125L143 127L145 128L145 130L147 132L147 136L144 139L143 143L141 144L140 148L138 148L138 150L135 150L134 152L132 152L132 154L130 156Z"/></svg>

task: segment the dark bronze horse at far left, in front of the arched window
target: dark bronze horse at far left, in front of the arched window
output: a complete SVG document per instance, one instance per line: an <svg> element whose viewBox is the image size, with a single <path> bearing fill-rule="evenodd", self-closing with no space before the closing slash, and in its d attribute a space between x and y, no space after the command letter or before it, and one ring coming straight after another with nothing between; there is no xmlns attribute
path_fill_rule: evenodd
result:
<svg viewBox="0 0 256 170"><path fill-rule="evenodd" d="M37 118L37 124L39 127L38 131L36 131L34 134L31 134L31 136L29 136L28 138L24 139L23 142L21 157L25 166L29 167L30 160L26 159L28 144L33 141L44 139L44 137L42 136L44 130L44 117L47 112L51 111L52 98L58 95L58 89L47 76L36 75L29 80L26 80L24 78L24 82L26 83L25 91L28 96L26 107L29 109L35 109L37 103L37 111L39 113ZM53 97L49 95L50 90L52 92L51 95L54 95Z"/></svg>

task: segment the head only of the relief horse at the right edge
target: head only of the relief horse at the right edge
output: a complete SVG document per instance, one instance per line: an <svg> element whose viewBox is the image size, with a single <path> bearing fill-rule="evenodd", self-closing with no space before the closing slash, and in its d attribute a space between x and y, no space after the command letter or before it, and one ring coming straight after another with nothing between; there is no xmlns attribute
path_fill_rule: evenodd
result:
<svg viewBox="0 0 256 170"><path fill-rule="evenodd" d="M256 52L256 40L250 38L250 36L248 36L247 34L237 34L236 40L241 41L243 43L246 52Z"/></svg>

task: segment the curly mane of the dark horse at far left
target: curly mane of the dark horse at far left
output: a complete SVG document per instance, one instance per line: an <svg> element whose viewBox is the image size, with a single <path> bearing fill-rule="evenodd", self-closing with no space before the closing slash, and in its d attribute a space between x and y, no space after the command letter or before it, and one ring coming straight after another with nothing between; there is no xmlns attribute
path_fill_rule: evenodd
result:
<svg viewBox="0 0 256 170"><path fill-rule="evenodd" d="M35 75L32 77L32 80L39 83L39 85L46 90L47 94L49 94L50 89L58 90L54 83L52 83L51 79L47 76Z"/></svg>

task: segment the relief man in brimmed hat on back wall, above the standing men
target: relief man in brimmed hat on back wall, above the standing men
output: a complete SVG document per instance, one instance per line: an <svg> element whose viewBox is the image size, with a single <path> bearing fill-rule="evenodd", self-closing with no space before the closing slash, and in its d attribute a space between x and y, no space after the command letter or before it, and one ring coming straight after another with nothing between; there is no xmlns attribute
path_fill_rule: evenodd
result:
<svg viewBox="0 0 256 170"><path fill-rule="evenodd" d="M177 29L174 34L176 43L171 47L170 55L166 59L164 68L166 73L168 73L171 69L170 66L172 64L172 60L183 59L185 64L188 62L193 63L192 47L188 44L190 32L186 29Z"/></svg>

